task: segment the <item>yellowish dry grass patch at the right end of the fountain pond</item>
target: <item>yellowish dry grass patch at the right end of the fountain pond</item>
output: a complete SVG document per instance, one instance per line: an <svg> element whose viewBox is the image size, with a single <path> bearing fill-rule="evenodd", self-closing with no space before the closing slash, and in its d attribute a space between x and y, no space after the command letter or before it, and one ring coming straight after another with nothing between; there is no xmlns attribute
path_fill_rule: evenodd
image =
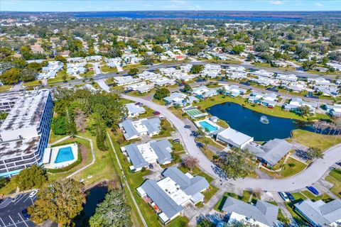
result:
<svg viewBox="0 0 341 227"><path fill-rule="evenodd" d="M301 143L307 147L315 147L320 148L321 150L326 150L333 145L341 143L341 136L321 135L318 133L297 129L293 131L292 138L289 140L295 140L297 143Z"/></svg>

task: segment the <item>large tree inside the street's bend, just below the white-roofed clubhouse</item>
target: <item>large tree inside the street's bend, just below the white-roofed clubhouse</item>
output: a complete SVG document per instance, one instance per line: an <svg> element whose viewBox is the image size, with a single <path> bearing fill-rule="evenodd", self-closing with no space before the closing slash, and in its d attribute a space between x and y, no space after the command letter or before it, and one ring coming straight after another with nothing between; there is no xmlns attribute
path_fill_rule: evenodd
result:
<svg viewBox="0 0 341 227"><path fill-rule="evenodd" d="M256 170L256 162L252 161L254 157L247 150L223 152L213 158L215 164L224 171L228 178L244 178Z"/></svg>

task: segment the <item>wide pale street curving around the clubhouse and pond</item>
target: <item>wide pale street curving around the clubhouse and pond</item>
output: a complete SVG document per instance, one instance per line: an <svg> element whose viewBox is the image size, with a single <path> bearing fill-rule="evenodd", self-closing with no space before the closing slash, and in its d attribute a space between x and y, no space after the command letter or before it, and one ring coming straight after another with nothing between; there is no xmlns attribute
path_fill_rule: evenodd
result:
<svg viewBox="0 0 341 227"><path fill-rule="evenodd" d="M154 111L159 111L163 116L165 116L173 126L179 131L183 144L189 155L197 157L200 161L199 165L202 170L207 172L207 174L212 175L215 178L219 178L218 175L212 170L214 166L212 162L201 152L200 148L197 148L195 140L190 136L190 129L184 128L185 123L177 116L175 116L171 111L169 111L166 106L161 106L152 101L146 99L141 99L134 96L122 95L122 98L129 99L131 101L141 102ZM284 179L254 179L254 178L244 178L244 179L228 179L222 180L222 184L217 185L221 189L226 187L226 184L233 184L235 187L242 189L251 189L254 191L268 191L268 192L291 192L298 189L303 189L317 182L328 169L341 160L341 145L336 145L325 152L323 159L315 160L310 166L308 166L303 172L293 177L288 177Z"/></svg>

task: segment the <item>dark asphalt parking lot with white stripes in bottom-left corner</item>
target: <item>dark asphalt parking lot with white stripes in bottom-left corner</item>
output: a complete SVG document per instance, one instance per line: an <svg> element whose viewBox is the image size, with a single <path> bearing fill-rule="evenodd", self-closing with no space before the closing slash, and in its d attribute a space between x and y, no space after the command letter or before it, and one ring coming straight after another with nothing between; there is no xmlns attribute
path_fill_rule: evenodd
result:
<svg viewBox="0 0 341 227"><path fill-rule="evenodd" d="M0 227L32 227L36 226L28 218L24 217L22 211L31 206L37 199L36 196L30 198L29 193L23 194L18 201L12 202L10 199L4 199L0 204Z"/></svg>

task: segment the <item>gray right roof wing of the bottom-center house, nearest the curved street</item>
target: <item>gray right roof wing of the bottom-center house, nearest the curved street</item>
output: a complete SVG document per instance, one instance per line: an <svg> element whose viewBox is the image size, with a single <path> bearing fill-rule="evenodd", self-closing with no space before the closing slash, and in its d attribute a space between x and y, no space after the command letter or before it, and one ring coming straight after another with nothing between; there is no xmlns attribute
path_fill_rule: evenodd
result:
<svg viewBox="0 0 341 227"><path fill-rule="evenodd" d="M188 177L176 167L169 167L163 171L164 177L171 177L173 181L180 185L180 188L188 195L194 196L198 192L202 192L204 189L210 186L207 180L201 176L195 176L193 178Z"/></svg>

